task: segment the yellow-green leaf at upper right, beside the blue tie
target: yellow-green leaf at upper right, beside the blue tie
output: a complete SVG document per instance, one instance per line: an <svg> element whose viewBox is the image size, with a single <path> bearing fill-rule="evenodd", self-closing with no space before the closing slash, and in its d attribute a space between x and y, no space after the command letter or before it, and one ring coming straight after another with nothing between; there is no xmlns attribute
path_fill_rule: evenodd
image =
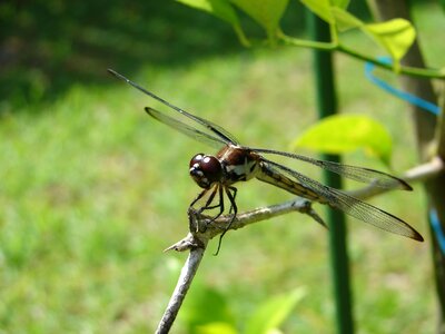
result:
<svg viewBox="0 0 445 334"><path fill-rule="evenodd" d="M365 24L362 29L386 49L394 59L394 69L398 71L399 60L416 38L413 24L405 19L393 19L382 23Z"/></svg>

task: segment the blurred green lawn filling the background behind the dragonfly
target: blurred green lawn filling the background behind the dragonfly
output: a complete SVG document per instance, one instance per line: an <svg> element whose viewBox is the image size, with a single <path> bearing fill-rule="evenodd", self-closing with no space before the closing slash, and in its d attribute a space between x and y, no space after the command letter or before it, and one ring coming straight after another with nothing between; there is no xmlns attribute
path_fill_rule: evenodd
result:
<svg viewBox="0 0 445 334"><path fill-rule="evenodd" d="M287 149L315 121L309 50L244 50L228 27L177 3L107 3L0 4L10 23L1 32L8 57L0 69L4 333L152 330L185 259L161 250L187 232L186 209L198 191L187 163L209 150L152 122L142 108L157 105L106 68L251 146ZM433 6L415 14L427 22L419 30L428 62L441 66L443 14ZM355 33L347 38L378 53ZM406 106L370 86L360 62L336 61L342 110L385 122L396 141L394 169L414 166ZM360 153L347 161L383 168ZM289 198L258 183L241 185L238 196L241 210ZM422 188L372 203L427 242L350 222L358 333L431 333L436 313ZM285 331L333 333L326 237L300 215L229 233L221 254L202 262L200 284L227 296L240 325L259 301L306 286L308 296ZM175 333L181 328L179 321Z"/></svg>

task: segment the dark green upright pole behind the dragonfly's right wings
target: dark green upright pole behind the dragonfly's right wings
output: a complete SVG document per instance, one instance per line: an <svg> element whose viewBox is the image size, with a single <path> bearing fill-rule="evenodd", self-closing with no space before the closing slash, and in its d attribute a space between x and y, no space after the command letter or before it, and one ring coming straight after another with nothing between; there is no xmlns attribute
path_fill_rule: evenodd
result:
<svg viewBox="0 0 445 334"><path fill-rule="evenodd" d="M308 14L308 26L312 38L329 41L329 26L314 13ZM319 118L337 112L337 99L334 82L332 53L314 51L314 67L317 89L317 109ZM323 159L340 161L336 155L323 155ZM333 173L324 173L325 183L335 188L342 187L342 178ZM336 325L338 334L354 333L352 294L349 284L349 262L346 245L345 215L328 208L330 266L334 282L336 306Z"/></svg>

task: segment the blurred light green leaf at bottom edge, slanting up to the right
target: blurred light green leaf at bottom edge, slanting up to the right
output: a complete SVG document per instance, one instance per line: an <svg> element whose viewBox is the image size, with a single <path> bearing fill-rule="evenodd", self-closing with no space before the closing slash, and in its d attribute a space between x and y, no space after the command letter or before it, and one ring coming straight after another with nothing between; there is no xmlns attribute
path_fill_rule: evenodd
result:
<svg viewBox="0 0 445 334"><path fill-rule="evenodd" d="M295 305L305 295L306 289L298 287L290 293L267 299L247 321L245 333L278 333L278 326L289 316Z"/></svg>

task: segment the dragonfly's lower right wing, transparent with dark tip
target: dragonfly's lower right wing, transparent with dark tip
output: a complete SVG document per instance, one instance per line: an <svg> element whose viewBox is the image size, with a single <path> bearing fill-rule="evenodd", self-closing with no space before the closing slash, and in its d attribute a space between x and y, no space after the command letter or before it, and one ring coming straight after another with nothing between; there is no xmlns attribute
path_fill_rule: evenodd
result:
<svg viewBox="0 0 445 334"><path fill-rule="evenodd" d="M346 193L325 186L303 174L290 169L280 164L270 161L268 159L263 159L265 164L270 165L275 170L279 170L284 175L288 176L290 179L297 180L300 185L309 188L312 191L316 193L319 197L326 202L330 207L337 208L362 222L374 225L384 230L403 235L408 238L423 242L422 235L409 226L404 220L388 214L370 204L362 202L355 197L347 195ZM267 165L266 167L267 168Z"/></svg>

